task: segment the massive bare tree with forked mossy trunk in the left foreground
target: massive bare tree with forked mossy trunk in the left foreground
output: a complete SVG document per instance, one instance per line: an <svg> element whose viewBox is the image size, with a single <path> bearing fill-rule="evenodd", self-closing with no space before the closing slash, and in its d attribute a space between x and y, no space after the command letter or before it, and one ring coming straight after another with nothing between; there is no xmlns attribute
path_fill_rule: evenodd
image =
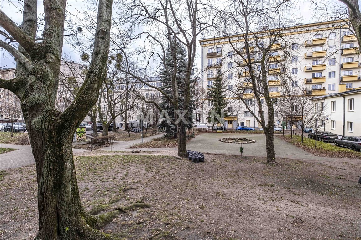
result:
<svg viewBox="0 0 361 240"><path fill-rule="evenodd" d="M87 214L81 203L71 142L105 78L109 52L112 0L99 0L89 71L75 100L64 112L55 108L61 65L66 1L43 1L44 30L36 41L37 1L25 0L18 27L0 10L0 26L19 44L0 40L16 61L16 77L0 79L21 101L38 180L39 232L36 240L109 239L93 228L110 218ZM13 41L12 41L13 42ZM103 220L102 220L103 219Z"/></svg>

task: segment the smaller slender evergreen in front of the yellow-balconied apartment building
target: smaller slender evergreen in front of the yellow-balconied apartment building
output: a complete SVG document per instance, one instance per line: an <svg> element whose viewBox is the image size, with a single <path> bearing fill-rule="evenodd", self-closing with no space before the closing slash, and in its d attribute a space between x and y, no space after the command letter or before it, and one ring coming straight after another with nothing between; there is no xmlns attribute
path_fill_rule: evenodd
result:
<svg viewBox="0 0 361 240"><path fill-rule="evenodd" d="M209 101L212 101L213 106L208 111L208 122L214 124L221 123L221 119L214 117L214 122L212 122L212 110L214 113L217 113L219 116L222 116L222 110L227 106L227 101L225 99L225 87L223 86L223 75L222 73L217 73L216 79L213 81L212 88L210 88L208 93ZM227 116L227 111L224 110L224 116Z"/></svg>

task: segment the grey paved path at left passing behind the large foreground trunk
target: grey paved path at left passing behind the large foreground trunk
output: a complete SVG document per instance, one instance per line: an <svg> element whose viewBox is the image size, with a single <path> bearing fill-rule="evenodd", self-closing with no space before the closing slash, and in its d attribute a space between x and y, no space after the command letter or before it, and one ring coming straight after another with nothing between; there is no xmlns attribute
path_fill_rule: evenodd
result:
<svg viewBox="0 0 361 240"><path fill-rule="evenodd" d="M14 148L17 150L0 154L0 170L23 167L35 163L30 145L0 144L0 148ZM74 153L88 151L85 149L74 149Z"/></svg>

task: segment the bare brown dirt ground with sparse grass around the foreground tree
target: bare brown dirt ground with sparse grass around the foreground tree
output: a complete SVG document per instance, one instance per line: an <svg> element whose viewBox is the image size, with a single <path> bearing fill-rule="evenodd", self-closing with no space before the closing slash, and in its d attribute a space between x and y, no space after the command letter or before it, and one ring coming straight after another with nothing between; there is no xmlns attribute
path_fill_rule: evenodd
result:
<svg viewBox="0 0 361 240"><path fill-rule="evenodd" d="M91 154L75 159L87 210L110 202L108 210L137 201L152 205L102 229L122 239L361 239L361 162L278 159L270 166L258 157L206 154L204 163L192 163ZM0 239L34 238L35 166L0 174L0 215Z"/></svg>

